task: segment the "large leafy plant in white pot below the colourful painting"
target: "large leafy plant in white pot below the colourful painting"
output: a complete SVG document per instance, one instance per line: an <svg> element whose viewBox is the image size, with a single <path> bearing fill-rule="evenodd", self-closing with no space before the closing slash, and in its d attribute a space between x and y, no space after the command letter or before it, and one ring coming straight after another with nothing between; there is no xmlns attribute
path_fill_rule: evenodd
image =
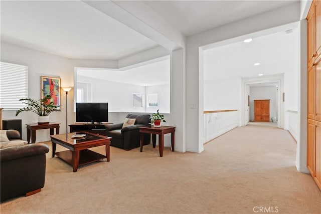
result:
<svg viewBox="0 0 321 214"><path fill-rule="evenodd" d="M51 100L51 95L46 95L44 98L35 101L30 98L23 98L19 101L23 101L24 104L27 104L27 107L17 110L16 116L23 111L31 111L39 115L38 124L49 124L49 114L54 111L59 111L58 107Z"/></svg>

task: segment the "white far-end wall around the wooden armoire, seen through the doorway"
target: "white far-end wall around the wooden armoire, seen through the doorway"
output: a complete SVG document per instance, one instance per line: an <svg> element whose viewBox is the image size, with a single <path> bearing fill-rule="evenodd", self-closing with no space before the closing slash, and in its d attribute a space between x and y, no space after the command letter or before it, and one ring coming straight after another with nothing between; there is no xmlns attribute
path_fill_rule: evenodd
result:
<svg viewBox="0 0 321 214"><path fill-rule="evenodd" d="M276 86L250 87L250 90L250 120L254 121L254 100L270 100L270 121L271 117L276 117Z"/></svg>

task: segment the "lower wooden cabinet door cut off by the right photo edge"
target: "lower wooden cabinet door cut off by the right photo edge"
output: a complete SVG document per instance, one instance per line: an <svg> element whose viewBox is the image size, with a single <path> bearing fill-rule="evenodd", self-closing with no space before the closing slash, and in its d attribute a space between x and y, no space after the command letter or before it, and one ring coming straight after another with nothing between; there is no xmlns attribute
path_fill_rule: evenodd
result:
<svg viewBox="0 0 321 214"><path fill-rule="evenodd" d="M321 189L321 122L315 121L315 168L314 180Z"/></svg>

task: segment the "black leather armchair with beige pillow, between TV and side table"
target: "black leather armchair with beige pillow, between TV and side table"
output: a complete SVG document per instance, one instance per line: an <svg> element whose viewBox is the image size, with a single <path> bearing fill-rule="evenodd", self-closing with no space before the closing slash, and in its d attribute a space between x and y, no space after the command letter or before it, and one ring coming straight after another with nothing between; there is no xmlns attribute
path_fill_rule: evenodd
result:
<svg viewBox="0 0 321 214"><path fill-rule="evenodd" d="M149 114L127 114L126 118L135 118L135 124L122 128L123 123L106 125L106 135L112 137L110 145L125 150L140 146L139 127L150 126ZM150 134L144 134L143 144L150 143Z"/></svg>

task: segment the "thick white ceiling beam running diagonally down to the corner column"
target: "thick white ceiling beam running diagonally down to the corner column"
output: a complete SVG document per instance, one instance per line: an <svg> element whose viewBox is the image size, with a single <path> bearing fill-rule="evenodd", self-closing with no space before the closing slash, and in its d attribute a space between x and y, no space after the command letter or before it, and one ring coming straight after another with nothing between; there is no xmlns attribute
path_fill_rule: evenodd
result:
<svg viewBox="0 0 321 214"><path fill-rule="evenodd" d="M169 51L185 48L185 36L141 1L83 1Z"/></svg>

